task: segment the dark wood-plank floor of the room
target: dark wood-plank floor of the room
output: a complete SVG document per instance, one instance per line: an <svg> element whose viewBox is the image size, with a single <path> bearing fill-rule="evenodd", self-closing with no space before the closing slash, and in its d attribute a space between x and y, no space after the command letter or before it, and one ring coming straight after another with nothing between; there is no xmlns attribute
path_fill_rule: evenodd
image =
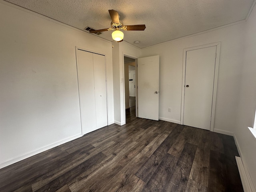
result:
<svg viewBox="0 0 256 192"><path fill-rule="evenodd" d="M242 192L231 136L136 118L0 169L0 192Z"/></svg>

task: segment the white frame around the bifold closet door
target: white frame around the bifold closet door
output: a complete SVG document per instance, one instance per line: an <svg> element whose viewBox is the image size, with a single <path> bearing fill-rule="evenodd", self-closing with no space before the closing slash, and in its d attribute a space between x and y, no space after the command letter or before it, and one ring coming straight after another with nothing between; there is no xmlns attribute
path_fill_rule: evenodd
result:
<svg viewBox="0 0 256 192"><path fill-rule="evenodd" d="M86 52L90 52L90 53L94 53L94 54L99 54L99 55L103 55L105 57L105 75L106 75L106 103L107 103L107 122L108 122L108 125L109 125L109 111L108 111L108 77L107 77L107 66L106 66L106 63L107 63L107 60L106 60L106 54L104 53L101 53L101 52L96 52L96 51L92 51L92 50L88 50L88 49L85 49L85 48L80 48L80 47L77 47L76 46L76 77L77 77L77 86L78 86L78 97L79 97L79 108L80 108L80 122L81 122L81 132L82 132L82 136L84 134L86 134L83 130L83 120L82 120L82 115L83 115L83 112L82 112L82 100L80 98L80 92L79 92L79 84L80 84L80 80L78 78L78 68L79 68L79 62L78 62L78 50L82 50L82 51L86 51Z"/></svg>

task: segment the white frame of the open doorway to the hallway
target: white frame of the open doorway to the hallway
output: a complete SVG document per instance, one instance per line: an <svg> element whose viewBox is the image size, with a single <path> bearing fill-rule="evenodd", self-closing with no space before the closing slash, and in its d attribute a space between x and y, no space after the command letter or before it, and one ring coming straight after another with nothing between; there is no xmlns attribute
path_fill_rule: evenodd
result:
<svg viewBox="0 0 256 192"><path fill-rule="evenodd" d="M138 64L137 64L137 57L134 56L134 55L131 55L131 54L128 54L128 53L125 53L125 52L122 52L122 72L123 72L123 76L122 76L122 79L123 79L123 109L124 109L124 124L126 124L126 111L125 111L125 81L124 81L124 57L129 57L129 58L132 58L135 60L135 76L136 76L136 79L138 79L138 73L137 73L137 67L138 67ZM135 94L135 97L138 98L138 84L137 84L138 81L136 81L136 94ZM136 108L136 117L138 117L138 99L136 99L136 104L135 104L135 108Z"/></svg>

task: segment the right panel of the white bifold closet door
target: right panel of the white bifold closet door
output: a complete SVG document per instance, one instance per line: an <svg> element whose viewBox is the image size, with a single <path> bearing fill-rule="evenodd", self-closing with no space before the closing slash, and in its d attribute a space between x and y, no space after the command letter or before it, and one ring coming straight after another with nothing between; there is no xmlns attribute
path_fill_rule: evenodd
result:
<svg viewBox="0 0 256 192"><path fill-rule="evenodd" d="M93 54L97 129L108 125L105 56Z"/></svg>

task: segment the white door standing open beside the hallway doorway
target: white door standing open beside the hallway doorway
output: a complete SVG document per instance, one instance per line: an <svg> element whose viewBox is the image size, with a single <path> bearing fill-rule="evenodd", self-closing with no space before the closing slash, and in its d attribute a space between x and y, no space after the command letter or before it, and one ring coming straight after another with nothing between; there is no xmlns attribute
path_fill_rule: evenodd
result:
<svg viewBox="0 0 256 192"><path fill-rule="evenodd" d="M138 58L138 117L158 120L159 56Z"/></svg>

